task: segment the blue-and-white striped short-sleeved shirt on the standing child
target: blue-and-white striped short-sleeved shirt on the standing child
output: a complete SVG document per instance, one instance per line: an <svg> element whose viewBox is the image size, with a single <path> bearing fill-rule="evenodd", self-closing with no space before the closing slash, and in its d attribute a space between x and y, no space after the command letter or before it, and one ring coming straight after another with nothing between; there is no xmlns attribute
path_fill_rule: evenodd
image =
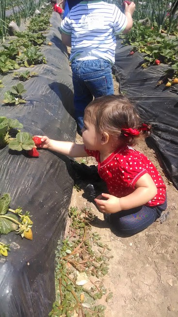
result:
<svg viewBox="0 0 178 317"><path fill-rule="evenodd" d="M115 34L127 25L126 16L115 6L100 0L81 1L61 23L61 31L71 35L70 61L103 58L115 61Z"/></svg>

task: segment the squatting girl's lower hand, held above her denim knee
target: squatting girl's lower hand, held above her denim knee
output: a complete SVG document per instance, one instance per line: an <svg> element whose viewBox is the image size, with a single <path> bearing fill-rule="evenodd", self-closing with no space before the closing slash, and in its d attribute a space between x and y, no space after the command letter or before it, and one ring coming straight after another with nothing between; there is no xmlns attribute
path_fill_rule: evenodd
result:
<svg viewBox="0 0 178 317"><path fill-rule="evenodd" d="M107 200L103 200L102 198L106 198ZM100 199L95 198L94 201L101 212L115 213L121 211L119 199L120 198L110 194L102 194Z"/></svg>

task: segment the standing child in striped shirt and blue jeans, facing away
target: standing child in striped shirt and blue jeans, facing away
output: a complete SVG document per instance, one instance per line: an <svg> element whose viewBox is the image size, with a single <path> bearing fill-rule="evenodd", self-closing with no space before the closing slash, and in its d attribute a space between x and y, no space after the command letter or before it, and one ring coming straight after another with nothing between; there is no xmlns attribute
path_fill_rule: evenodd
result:
<svg viewBox="0 0 178 317"><path fill-rule="evenodd" d="M103 95L112 95L116 37L132 27L134 2L125 3L125 14L101 0L81 1L61 23L62 41L71 46L74 108L81 135L85 107Z"/></svg>

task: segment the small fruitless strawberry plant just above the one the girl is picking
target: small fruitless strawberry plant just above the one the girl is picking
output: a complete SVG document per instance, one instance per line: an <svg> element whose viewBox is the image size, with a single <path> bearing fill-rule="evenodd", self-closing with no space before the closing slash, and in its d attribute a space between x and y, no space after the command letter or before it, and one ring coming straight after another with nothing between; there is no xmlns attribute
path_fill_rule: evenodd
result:
<svg viewBox="0 0 178 317"><path fill-rule="evenodd" d="M5 92L2 102L8 105L25 104L26 100L22 98L22 94L26 91L21 83L12 86L10 90Z"/></svg>

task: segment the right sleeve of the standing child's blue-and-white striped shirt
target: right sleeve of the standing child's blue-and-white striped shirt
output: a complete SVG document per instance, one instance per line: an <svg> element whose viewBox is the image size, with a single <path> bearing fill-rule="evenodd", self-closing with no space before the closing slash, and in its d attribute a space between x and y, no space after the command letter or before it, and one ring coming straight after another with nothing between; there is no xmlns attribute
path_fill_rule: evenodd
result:
<svg viewBox="0 0 178 317"><path fill-rule="evenodd" d="M114 29L114 32L117 34L117 33L124 31L124 29L127 26L127 23L128 23L128 19L125 16L125 14L122 13L121 10L114 5L114 8L113 8L113 29Z"/></svg>

